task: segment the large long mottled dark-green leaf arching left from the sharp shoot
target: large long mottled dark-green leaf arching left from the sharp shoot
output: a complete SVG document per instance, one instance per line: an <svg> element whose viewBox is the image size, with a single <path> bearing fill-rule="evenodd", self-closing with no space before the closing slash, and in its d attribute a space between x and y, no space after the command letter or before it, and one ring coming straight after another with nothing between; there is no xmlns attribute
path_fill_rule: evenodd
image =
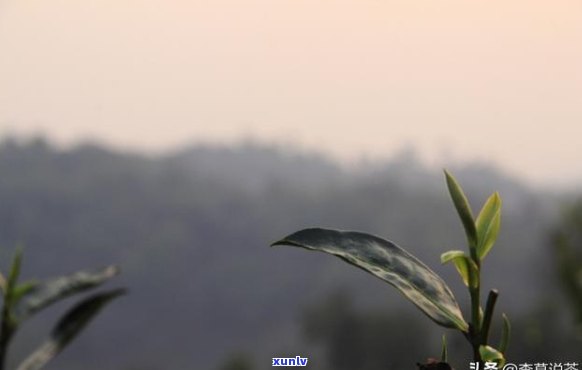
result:
<svg viewBox="0 0 582 370"><path fill-rule="evenodd" d="M382 238L354 231L304 229L272 244L332 254L398 289L437 324L468 331L445 282L424 263Z"/></svg>

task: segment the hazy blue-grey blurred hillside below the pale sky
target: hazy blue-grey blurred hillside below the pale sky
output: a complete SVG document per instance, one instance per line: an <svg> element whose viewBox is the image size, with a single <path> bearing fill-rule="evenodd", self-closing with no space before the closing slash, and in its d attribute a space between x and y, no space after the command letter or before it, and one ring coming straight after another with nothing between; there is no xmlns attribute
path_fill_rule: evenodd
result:
<svg viewBox="0 0 582 370"><path fill-rule="evenodd" d="M484 272L485 287L501 290L500 309L520 317L559 301L548 231L560 196L482 164L451 170L474 209L495 190L504 199L500 245ZM346 169L250 144L157 157L91 144L60 150L43 139L0 145L1 266L22 243L25 277L115 263L131 291L49 370L211 370L236 351L267 368L276 353L308 348L302 312L338 290L361 309L409 312L431 325L339 260L268 248L315 225L397 242L455 281L466 302L452 268L439 263L443 251L464 248L442 173L414 156ZM44 322L20 333L16 356L35 345Z"/></svg>

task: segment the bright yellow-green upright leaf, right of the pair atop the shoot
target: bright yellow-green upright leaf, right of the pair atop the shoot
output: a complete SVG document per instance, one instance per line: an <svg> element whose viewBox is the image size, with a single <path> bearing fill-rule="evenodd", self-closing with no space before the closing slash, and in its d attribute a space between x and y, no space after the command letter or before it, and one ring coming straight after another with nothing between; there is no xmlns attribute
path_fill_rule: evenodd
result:
<svg viewBox="0 0 582 370"><path fill-rule="evenodd" d="M495 244L501 225L501 197L495 192L487 199L477 216L477 255L485 258Z"/></svg>

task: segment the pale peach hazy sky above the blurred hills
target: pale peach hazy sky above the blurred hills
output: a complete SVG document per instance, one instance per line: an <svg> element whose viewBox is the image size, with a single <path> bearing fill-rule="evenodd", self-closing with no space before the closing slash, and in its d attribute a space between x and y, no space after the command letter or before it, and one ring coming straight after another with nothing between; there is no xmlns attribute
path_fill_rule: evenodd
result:
<svg viewBox="0 0 582 370"><path fill-rule="evenodd" d="M582 1L0 0L0 135L38 132L582 182Z"/></svg>

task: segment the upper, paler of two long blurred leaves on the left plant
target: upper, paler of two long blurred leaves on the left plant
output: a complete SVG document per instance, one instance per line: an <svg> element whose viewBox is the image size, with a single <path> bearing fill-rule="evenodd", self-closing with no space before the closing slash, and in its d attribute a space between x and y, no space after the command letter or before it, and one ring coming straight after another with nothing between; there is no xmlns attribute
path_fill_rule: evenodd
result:
<svg viewBox="0 0 582 370"><path fill-rule="evenodd" d="M109 266L97 271L79 271L37 284L17 306L17 316L21 320L26 319L57 301L95 288L118 273L117 267Z"/></svg>

